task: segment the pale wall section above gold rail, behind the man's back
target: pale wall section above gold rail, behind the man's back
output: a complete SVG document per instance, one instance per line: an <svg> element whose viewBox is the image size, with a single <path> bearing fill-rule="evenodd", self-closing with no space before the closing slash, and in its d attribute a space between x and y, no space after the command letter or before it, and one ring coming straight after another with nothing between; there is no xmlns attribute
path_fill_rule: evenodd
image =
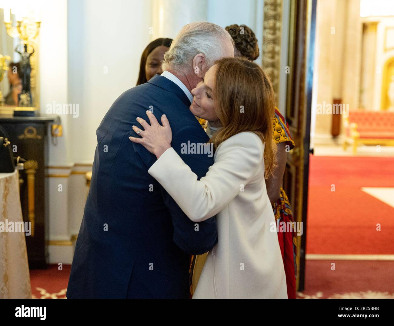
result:
<svg viewBox="0 0 394 326"><path fill-rule="evenodd" d="M68 103L73 162L93 162L96 129L125 90L136 84L139 60L151 41L151 1L69 0Z"/></svg>

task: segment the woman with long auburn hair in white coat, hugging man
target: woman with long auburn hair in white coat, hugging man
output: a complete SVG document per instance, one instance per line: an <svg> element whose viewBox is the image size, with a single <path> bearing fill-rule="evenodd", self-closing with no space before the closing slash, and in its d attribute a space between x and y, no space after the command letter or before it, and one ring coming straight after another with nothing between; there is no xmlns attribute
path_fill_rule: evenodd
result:
<svg viewBox="0 0 394 326"><path fill-rule="evenodd" d="M205 145L215 149L214 165L200 180L171 147L165 116L161 126L147 111L151 125L139 118L141 138L130 140L156 155L148 172L192 221L216 215L218 242L208 254L193 298L287 298L264 181L275 167L276 150L269 79L253 62L224 58L206 72L192 94L191 112L220 127Z"/></svg>

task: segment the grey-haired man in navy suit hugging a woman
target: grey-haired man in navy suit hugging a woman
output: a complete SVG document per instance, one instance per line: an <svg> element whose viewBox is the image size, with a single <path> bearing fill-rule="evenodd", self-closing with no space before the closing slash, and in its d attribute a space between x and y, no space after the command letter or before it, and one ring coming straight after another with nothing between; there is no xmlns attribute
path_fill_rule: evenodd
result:
<svg viewBox="0 0 394 326"><path fill-rule="evenodd" d="M148 169L156 157L129 136L149 110L171 123L171 146L209 137L189 110L191 89L222 57L234 56L229 33L212 23L184 26L165 53L162 76L124 92L97 129L97 147L84 217L76 241L67 298L188 298L189 254L217 243L214 217L194 223ZM200 179L207 153L182 154Z"/></svg>

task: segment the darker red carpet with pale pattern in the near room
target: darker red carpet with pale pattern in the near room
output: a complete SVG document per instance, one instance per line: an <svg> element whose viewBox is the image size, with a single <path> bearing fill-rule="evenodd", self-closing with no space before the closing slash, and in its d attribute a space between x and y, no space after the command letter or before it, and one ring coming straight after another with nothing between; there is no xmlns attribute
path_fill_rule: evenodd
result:
<svg viewBox="0 0 394 326"><path fill-rule="evenodd" d="M331 271L331 263L335 271ZM298 298L394 298L394 262L307 260L305 291ZM33 298L65 298L71 265L32 269Z"/></svg>

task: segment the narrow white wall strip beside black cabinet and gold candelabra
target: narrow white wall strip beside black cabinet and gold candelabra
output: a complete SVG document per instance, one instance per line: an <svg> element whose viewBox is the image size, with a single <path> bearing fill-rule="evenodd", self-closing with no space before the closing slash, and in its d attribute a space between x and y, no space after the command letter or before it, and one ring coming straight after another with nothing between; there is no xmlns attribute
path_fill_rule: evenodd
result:
<svg viewBox="0 0 394 326"><path fill-rule="evenodd" d="M41 4L41 27L39 32L39 91L40 112L46 115L46 105L68 102L67 91L67 0L44 0ZM63 137L57 138L57 146L49 141L49 166L65 166L71 161L71 136L69 117L62 116ZM49 129L49 128L48 128ZM48 130L50 135L50 130ZM70 171L67 171L69 173ZM46 169L46 174L52 173ZM65 171L59 171L64 174ZM69 178L48 178L46 180L47 206L49 217L49 240L67 241L68 230L67 207L69 205ZM62 191L58 191L61 185ZM52 242L53 243L53 242ZM50 245L50 263L71 263L72 247Z"/></svg>

